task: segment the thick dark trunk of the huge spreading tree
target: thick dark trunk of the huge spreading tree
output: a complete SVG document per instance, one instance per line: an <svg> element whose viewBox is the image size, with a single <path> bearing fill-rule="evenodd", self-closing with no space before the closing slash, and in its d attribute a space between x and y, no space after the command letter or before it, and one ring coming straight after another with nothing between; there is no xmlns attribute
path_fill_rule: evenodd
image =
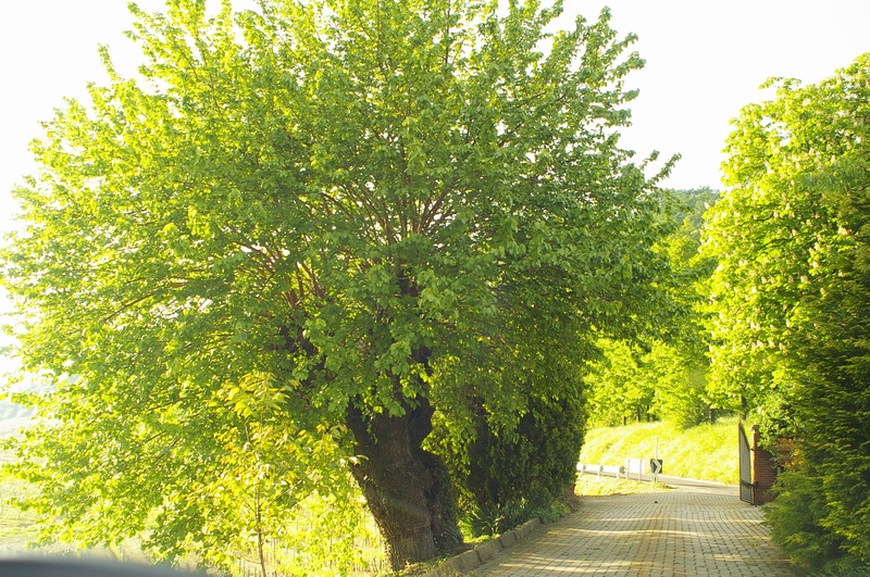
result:
<svg viewBox="0 0 870 577"><path fill-rule="evenodd" d="M399 417L355 405L347 412L361 457L350 471L387 542L394 570L462 544L447 468L421 447L432 430L432 414L426 400Z"/></svg>

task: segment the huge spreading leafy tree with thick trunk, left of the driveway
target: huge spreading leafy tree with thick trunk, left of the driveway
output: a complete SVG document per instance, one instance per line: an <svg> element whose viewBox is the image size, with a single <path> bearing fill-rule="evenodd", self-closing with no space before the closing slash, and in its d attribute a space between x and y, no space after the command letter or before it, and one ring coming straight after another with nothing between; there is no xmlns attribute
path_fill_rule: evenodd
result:
<svg viewBox="0 0 870 577"><path fill-rule="evenodd" d="M24 371L52 384L17 472L61 537L157 518L149 544L184 554L228 530L227 487L263 530L261 503L327 491L345 461L395 567L460 542L422 448L468 398L442 373L520 359L498 334L517 311L569 339L630 321L657 234L618 146L632 38L498 4L133 7L140 76L103 54L112 81L47 123L3 254Z"/></svg>

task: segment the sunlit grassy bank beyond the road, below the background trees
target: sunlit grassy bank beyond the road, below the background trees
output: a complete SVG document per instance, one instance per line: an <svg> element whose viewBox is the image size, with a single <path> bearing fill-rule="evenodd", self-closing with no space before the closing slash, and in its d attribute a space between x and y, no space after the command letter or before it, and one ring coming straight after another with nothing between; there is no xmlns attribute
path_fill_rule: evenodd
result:
<svg viewBox="0 0 870 577"><path fill-rule="evenodd" d="M589 429L580 462L624 465L626 459L662 460L662 474L726 485L739 482L737 417L681 429L667 422Z"/></svg>

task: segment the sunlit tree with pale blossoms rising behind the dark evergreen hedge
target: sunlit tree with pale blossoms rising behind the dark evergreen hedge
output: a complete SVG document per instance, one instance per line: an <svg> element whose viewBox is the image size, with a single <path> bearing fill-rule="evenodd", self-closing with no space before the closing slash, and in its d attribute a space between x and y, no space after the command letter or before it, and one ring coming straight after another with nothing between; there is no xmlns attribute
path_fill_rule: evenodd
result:
<svg viewBox="0 0 870 577"><path fill-rule="evenodd" d="M732 188L709 212L706 250L719 258L713 277L713 375L721 391L763 405L766 391L787 385L783 355L800 324L804 297L817 291L819 250L840 225L819 187L803 186L860 142L849 128L852 80L800 87L780 83L776 100L751 104L734 121ZM738 399L737 399L738 400Z"/></svg>

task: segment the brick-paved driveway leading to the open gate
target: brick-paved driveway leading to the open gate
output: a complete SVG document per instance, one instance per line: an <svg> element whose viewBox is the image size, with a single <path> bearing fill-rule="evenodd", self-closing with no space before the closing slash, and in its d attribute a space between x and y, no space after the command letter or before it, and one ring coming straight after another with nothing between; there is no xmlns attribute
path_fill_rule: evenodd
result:
<svg viewBox="0 0 870 577"><path fill-rule="evenodd" d="M794 576L761 510L737 489L584 497L570 517L539 527L469 575L539 577Z"/></svg>

